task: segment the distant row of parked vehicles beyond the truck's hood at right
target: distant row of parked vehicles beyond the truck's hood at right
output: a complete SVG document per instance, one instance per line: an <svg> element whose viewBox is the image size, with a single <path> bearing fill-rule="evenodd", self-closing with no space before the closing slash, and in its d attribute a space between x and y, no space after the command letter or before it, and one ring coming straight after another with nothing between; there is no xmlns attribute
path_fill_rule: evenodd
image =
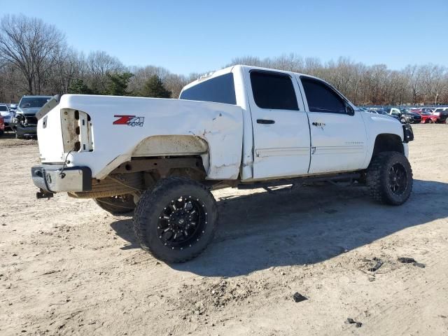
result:
<svg viewBox="0 0 448 336"><path fill-rule="evenodd" d="M448 124L448 107L406 109L401 107L365 108L359 106L358 109L369 113L390 116L391 118L400 120L402 124Z"/></svg>

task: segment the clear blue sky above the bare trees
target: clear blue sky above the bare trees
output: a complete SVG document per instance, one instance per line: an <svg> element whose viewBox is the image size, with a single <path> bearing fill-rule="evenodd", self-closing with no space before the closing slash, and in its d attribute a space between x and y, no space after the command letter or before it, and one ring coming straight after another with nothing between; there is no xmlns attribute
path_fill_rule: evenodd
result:
<svg viewBox="0 0 448 336"><path fill-rule="evenodd" d="M448 0L0 0L0 16L17 13L57 26L86 54L104 50L125 65L174 73L290 52L391 69L448 66Z"/></svg>

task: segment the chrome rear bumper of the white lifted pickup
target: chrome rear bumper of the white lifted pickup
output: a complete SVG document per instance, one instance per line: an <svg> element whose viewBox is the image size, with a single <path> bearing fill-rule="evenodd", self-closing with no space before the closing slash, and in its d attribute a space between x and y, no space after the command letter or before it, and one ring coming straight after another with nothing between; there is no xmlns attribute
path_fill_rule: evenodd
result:
<svg viewBox="0 0 448 336"><path fill-rule="evenodd" d="M34 186L45 193L92 190L92 171L89 167L38 165L31 167L31 178Z"/></svg>

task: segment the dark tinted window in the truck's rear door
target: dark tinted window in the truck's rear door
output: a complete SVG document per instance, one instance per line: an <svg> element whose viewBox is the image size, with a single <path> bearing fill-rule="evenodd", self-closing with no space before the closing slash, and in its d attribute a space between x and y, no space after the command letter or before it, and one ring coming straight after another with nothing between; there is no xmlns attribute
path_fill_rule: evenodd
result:
<svg viewBox="0 0 448 336"><path fill-rule="evenodd" d="M298 110L290 76L283 73L251 71L255 104L261 109Z"/></svg>

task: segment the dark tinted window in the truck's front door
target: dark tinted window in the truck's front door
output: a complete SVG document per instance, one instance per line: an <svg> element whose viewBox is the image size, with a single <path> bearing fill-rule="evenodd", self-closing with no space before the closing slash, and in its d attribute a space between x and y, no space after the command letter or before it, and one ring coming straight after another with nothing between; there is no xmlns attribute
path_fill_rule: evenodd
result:
<svg viewBox="0 0 448 336"><path fill-rule="evenodd" d="M300 77L310 112L346 113L345 104L331 87L313 78Z"/></svg>

